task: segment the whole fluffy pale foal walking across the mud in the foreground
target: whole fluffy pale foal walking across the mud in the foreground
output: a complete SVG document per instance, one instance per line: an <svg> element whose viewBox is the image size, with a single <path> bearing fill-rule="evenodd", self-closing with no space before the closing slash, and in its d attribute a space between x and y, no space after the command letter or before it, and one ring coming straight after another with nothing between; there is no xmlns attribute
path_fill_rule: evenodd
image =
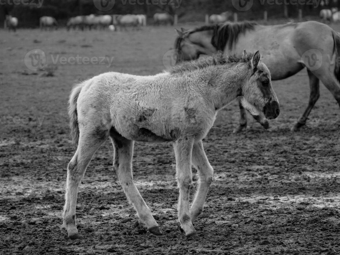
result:
<svg viewBox="0 0 340 255"><path fill-rule="evenodd" d="M196 238L192 222L203 210L213 174L202 139L219 109L237 97L254 115L276 118L279 114L270 73L258 51L232 56L220 52L152 76L108 72L76 85L69 115L78 148L67 167L63 213L68 237L79 238L75 224L79 183L94 153L110 137L114 171L139 219L153 234L162 233L132 178L134 141L173 142L180 190L178 217L186 236ZM189 210L191 164L200 181Z"/></svg>

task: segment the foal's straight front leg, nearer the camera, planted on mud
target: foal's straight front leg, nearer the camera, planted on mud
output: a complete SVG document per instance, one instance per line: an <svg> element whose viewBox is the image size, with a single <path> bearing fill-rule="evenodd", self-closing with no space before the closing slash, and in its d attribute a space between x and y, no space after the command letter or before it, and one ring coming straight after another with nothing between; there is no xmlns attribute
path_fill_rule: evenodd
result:
<svg viewBox="0 0 340 255"><path fill-rule="evenodd" d="M191 222L189 210L189 195L192 182L191 154L193 137L183 137L174 142L176 157L177 184L180 189L178 202L178 218L187 237L197 238L197 233Z"/></svg>

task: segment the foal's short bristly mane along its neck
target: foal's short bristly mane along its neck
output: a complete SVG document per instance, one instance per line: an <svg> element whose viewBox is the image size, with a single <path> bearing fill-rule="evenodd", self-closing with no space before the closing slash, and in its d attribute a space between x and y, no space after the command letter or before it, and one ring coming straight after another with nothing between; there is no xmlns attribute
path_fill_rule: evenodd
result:
<svg viewBox="0 0 340 255"><path fill-rule="evenodd" d="M225 65L225 64L235 64L235 63L245 63L252 59L253 53L248 53L246 55L235 53L233 55L225 55L223 52L219 51L218 53L208 56L203 59L192 60L192 61L183 61L166 71L170 74L176 73L184 73L186 71L202 69L207 66L216 66L216 65Z"/></svg>

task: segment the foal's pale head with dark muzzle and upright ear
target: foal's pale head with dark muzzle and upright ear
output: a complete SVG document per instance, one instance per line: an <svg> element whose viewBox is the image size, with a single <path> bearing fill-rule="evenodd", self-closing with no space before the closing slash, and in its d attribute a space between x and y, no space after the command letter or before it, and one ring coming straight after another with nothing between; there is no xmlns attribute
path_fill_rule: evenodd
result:
<svg viewBox="0 0 340 255"><path fill-rule="evenodd" d="M244 50L243 55L246 54ZM270 72L260 60L259 51L251 57L248 67L249 80L242 87L242 106L261 123L275 119L280 113L280 106L272 88Z"/></svg>

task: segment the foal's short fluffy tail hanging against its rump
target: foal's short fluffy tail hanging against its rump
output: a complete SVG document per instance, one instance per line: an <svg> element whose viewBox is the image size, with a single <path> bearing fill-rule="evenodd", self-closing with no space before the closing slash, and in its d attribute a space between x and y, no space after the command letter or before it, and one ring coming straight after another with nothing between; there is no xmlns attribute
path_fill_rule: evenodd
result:
<svg viewBox="0 0 340 255"><path fill-rule="evenodd" d="M70 99L68 101L68 115L70 116L70 130L71 130L71 138L72 143L75 147L78 146L79 140L79 125L78 125L78 112L77 112L77 100L82 90L82 84L76 84L70 95Z"/></svg>

